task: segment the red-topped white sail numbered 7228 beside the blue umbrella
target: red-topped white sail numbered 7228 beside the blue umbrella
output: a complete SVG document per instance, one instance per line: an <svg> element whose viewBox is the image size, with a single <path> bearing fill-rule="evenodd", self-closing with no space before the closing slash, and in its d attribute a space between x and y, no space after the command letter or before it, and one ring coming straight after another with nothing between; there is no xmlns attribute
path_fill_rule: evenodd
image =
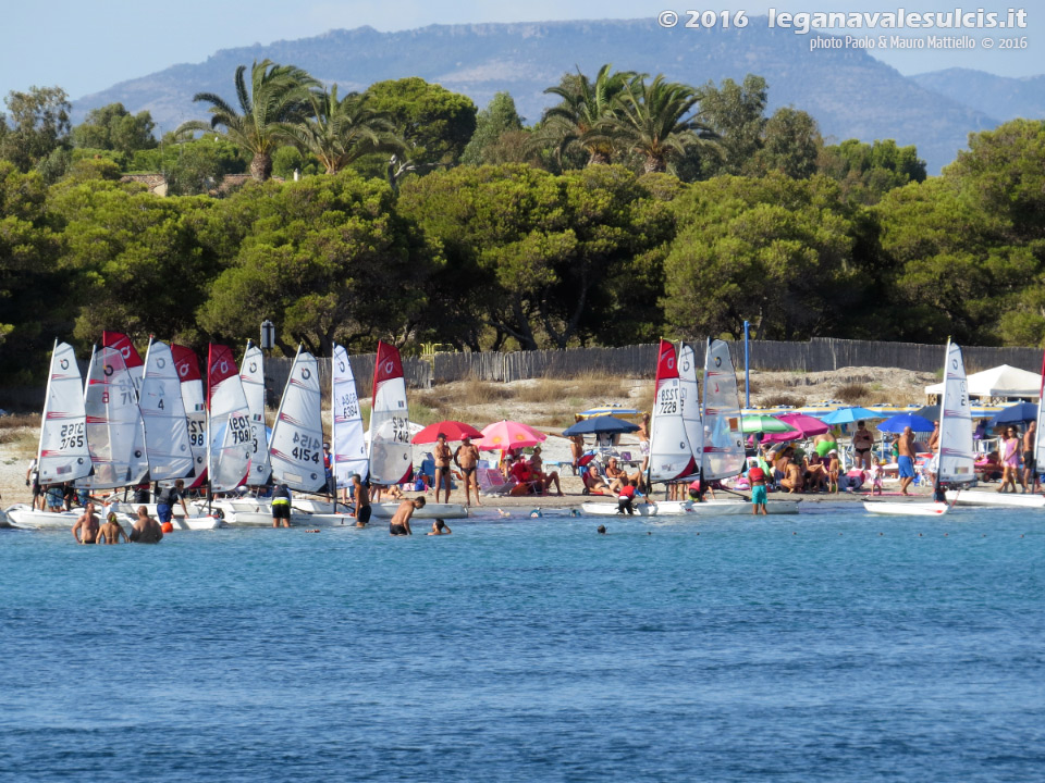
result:
<svg viewBox="0 0 1045 783"><path fill-rule="evenodd" d="M675 346L661 340L656 361L656 396L650 417L649 478L654 482L675 481L693 473L696 465L683 422Z"/></svg>

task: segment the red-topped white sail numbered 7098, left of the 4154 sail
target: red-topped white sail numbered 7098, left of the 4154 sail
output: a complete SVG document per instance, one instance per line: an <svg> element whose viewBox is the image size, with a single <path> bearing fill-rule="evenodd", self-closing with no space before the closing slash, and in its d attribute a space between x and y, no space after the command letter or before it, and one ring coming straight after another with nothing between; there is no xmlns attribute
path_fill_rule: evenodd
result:
<svg viewBox="0 0 1045 783"><path fill-rule="evenodd" d="M254 448L247 398L228 346L210 345L207 394L207 473L213 492L226 492L235 489L246 478Z"/></svg>

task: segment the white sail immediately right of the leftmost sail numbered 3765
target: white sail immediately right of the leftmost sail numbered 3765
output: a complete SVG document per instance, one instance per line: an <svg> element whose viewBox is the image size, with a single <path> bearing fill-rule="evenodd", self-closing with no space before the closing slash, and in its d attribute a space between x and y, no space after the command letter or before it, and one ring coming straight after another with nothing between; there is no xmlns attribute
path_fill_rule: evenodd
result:
<svg viewBox="0 0 1045 783"><path fill-rule="evenodd" d="M90 357L84 393L87 443L94 473L77 482L88 489L112 489L148 480L145 426L134 378L115 348Z"/></svg>

